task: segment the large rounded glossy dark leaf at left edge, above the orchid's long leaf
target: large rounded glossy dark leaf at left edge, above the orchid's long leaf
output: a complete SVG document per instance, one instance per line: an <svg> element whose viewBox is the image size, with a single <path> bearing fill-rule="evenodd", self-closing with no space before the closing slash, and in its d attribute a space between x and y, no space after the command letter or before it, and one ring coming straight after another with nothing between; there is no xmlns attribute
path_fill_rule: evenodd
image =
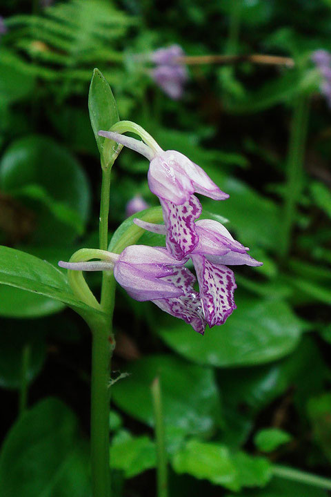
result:
<svg viewBox="0 0 331 497"><path fill-rule="evenodd" d="M35 213L31 244L70 244L90 212L90 186L77 159L48 137L12 143L0 162L0 188Z"/></svg>

